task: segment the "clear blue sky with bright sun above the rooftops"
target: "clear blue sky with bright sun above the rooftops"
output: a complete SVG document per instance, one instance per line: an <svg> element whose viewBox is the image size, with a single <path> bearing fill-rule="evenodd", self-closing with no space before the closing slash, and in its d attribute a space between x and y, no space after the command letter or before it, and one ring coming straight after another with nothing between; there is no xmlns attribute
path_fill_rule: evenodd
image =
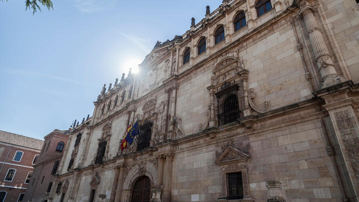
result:
<svg viewBox="0 0 359 202"><path fill-rule="evenodd" d="M104 83L222 1L52 2L32 15L23 0L0 1L0 130L43 139L91 116Z"/></svg>

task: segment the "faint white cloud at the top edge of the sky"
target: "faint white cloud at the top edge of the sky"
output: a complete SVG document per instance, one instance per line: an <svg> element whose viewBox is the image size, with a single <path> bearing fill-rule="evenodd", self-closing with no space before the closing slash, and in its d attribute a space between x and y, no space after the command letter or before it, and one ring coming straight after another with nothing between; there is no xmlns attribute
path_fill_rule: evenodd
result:
<svg viewBox="0 0 359 202"><path fill-rule="evenodd" d="M85 13L107 10L116 3L117 0L73 0L73 5Z"/></svg>

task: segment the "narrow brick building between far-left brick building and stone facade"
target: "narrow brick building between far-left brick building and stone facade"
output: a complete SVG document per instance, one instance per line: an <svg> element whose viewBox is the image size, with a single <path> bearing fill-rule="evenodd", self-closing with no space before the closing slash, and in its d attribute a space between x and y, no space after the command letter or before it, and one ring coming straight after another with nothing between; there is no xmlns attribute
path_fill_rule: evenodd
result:
<svg viewBox="0 0 359 202"><path fill-rule="evenodd" d="M44 137L45 141L36 159L24 202L47 202L51 189L56 189L54 175L57 173L69 138L69 130L54 130Z"/></svg>

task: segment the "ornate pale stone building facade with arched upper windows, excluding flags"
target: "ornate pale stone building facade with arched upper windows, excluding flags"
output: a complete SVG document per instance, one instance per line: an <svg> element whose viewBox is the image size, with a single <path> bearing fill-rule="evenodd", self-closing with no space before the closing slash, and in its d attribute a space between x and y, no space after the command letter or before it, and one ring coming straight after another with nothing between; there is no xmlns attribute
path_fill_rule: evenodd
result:
<svg viewBox="0 0 359 202"><path fill-rule="evenodd" d="M359 202L358 42L356 0L207 6L103 87L48 200Z"/></svg>

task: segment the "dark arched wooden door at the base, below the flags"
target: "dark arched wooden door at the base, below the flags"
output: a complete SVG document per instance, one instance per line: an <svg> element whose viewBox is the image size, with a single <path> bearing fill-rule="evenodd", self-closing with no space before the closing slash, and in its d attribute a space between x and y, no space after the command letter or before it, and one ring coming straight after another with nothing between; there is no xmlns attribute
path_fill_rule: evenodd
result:
<svg viewBox="0 0 359 202"><path fill-rule="evenodd" d="M139 178L132 192L132 202L150 202L151 180L147 176Z"/></svg>

